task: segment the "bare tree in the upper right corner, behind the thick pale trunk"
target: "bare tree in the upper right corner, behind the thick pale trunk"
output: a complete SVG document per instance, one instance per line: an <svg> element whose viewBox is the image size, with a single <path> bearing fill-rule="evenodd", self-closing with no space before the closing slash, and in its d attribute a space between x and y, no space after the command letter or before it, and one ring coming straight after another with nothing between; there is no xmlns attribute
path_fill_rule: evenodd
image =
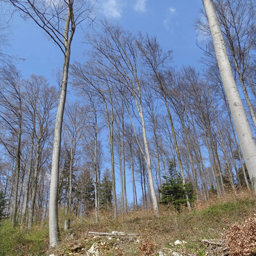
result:
<svg viewBox="0 0 256 256"><path fill-rule="evenodd" d="M238 74L238 82L243 89L256 128L256 117L247 90L247 84L250 83L250 72L255 69L255 63L251 58L256 43L255 4L251 0L216 0L214 6L227 51L232 56L230 63Z"/></svg>

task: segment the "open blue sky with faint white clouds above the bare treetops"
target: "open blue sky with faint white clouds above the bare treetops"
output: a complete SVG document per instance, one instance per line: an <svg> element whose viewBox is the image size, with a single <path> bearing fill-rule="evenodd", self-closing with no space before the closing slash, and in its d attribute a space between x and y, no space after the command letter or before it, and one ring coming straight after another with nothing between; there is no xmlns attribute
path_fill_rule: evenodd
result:
<svg viewBox="0 0 256 256"><path fill-rule="evenodd" d="M157 36L165 50L173 50L174 65L199 65L202 51L196 46L194 23L202 8L201 0L101 0L97 3L97 16L119 23L136 33ZM17 63L25 78L30 74L44 75L51 83L52 73L61 69L63 55L32 21L13 16L7 31L10 47L5 52L25 58ZM97 29L97 23L94 25ZM72 58L83 61L86 45L83 32L77 30L72 42Z"/></svg>

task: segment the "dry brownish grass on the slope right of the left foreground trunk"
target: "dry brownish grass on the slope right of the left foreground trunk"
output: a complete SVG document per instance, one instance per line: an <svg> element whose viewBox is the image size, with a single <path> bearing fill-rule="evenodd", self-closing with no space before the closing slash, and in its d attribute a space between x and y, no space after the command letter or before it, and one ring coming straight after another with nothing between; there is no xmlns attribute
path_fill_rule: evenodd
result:
<svg viewBox="0 0 256 256"><path fill-rule="evenodd" d="M95 223L93 215L82 220L74 219L72 228L75 236L68 240L69 235L62 231L61 246L70 248L70 244L82 244L90 248L93 243L104 242L108 237L93 239L88 235L88 231L122 231L137 233L138 236L120 237L119 241L113 242L113 250L105 252L105 255L156 255L159 250L170 247L176 240L187 242L184 250L194 251L195 255L203 255L200 253L204 248L198 241L221 239L227 223L242 222L245 217L253 216L255 209L255 197L252 193L240 191L238 199L231 193L226 193L221 199L212 197L208 202L196 202L193 210L188 211L184 208L181 213L160 206L159 218L154 217L152 210L144 209L119 215L116 220L111 212L101 212L99 223ZM224 218L227 219L226 223L223 222ZM66 249L66 252L69 251Z"/></svg>

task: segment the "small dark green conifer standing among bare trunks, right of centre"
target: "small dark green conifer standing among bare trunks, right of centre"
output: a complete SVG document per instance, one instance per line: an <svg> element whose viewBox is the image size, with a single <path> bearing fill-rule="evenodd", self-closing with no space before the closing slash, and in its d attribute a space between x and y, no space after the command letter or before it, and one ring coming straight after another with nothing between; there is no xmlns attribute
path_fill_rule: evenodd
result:
<svg viewBox="0 0 256 256"><path fill-rule="evenodd" d="M164 177L166 183L163 184L160 193L162 194L162 200L160 203L165 205L173 205L177 210L180 210L182 205L186 205L186 195L189 202L194 202L194 190L191 182L182 184L181 175L176 170L176 164L174 161L169 163L170 177Z"/></svg>

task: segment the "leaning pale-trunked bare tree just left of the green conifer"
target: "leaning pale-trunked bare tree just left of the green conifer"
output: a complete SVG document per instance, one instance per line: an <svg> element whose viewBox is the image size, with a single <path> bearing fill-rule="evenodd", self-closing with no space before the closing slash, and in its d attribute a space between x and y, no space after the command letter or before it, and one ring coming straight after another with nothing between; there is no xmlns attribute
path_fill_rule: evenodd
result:
<svg viewBox="0 0 256 256"><path fill-rule="evenodd" d="M101 53L113 68L114 72L111 74L112 79L114 79L117 84L123 86L125 91L129 94L130 100L126 106L133 108L132 104L135 103L138 115L137 120L141 125L143 137L144 151L141 151L141 153L145 158L147 165L152 205L155 215L158 216L159 210L154 188L152 161L146 134L146 122L143 106L143 90L146 83L141 77L142 66L140 66L141 63L137 46L135 44L135 38L131 33L125 32L120 27L106 23L104 24L104 35L100 38L95 37L93 40L90 40L90 42L95 50ZM121 94L123 93L121 90L119 91ZM126 97L126 100L127 99L128 98Z"/></svg>

